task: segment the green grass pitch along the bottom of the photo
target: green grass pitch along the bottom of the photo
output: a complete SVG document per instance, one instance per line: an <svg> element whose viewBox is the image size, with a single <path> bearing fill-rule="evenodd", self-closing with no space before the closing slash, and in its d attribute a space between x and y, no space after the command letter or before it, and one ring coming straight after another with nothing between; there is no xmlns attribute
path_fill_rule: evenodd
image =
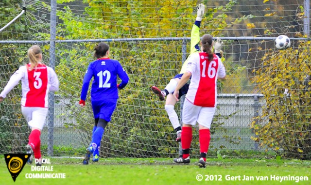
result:
<svg viewBox="0 0 311 185"><path fill-rule="evenodd" d="M174 164L171 158L109 158L82 165L81 159L51 158L53 171L32 171L26 165L14 183L0 158L1 185L310 185L311 161L272 159L208 159L207 168L199 169L197 159L189 165ZM27 179L27 173L66 173L65 179ZM198 181L196 178L200 178ZM233 180L226 179L228 175ZM254 180L243 181L243 176ZM271 179L281 176L306 176L295 182ZM239 179L240 176L240 179ZM267 176L268 180L257 180ZM213 179L213 180L212 180ZM217 179L217 180L216 180ZM207 181L208 180L208 181Z"/></svg>

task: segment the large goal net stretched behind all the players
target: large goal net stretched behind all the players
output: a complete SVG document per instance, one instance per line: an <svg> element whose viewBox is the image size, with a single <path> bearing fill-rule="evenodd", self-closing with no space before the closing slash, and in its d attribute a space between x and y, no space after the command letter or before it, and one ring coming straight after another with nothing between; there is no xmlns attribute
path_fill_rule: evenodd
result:
<svg viewBox="0 0 311 185"><path fill-rule="evenodd" d="M207 155L308 158L309 5L303 0L204 3L200 34L223 39L227 71L227 79L218 83ZM82 81L94 61L94 46L106 42L110 57L121 62L130 82L119 92L101 156L175 157L179 145L165 102L150 87L163 89L188 57L196 5L195 0L4 0L0 28L23 7L27 10L0 31L0 91L27 62L27 49L41 46L43 61L55 68L60 81L60 90L49 100L54 106L42 131L42 149L54 156L83 156L94 119L89 93L86 107L78 105ZM51 14L55 6L56 19ZM291 38L289 49L276 49L274 39L280 34ZM23 151L27 143L30 130L20 112L20 94L19 85L0 104L0 153ZM179 114L179 103L175 109ZM199 154L197 133L195 128L191 154Z"/></svg>

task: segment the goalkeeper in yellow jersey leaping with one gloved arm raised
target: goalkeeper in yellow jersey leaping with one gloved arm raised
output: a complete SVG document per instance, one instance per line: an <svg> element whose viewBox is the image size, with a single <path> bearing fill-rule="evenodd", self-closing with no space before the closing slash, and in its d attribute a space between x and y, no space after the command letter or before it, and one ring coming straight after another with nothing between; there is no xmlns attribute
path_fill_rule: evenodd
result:
<svg viewBox="0 0 311 185"><path fill-rule="evenodd" d="M204 16L204 13L205 13L205 5L199 4L197 6L197 17L195 19L195 22L194 22L194 24L192 26L192 30L191 30L190 55L193 53L200 52L200 24L201 24L202 18ZM222 45L223 45L222 41L218 38L217 42L214 45L214 50L215 50L214 52L219 57L222 57L221 56ZM167 96L164 108L169 115L169 119L173 125L174 130L176 131L176 141L177 142L180 142L180 140L181 140L181 127L179 124L179 119L178 119L177 113L174 110L174 106L175 106L177 101L173 97L173 92L177 86L177 82L180 80L180 78L183 76L184 72L186 71L188 59L189 59L189 57L183 63L180 73L178 75L176 75L175 77L173 77L173 79L170 80L170 83L166 85L166 87L163 91L161 91L160 89L158 89L155 86L151 87L152 91L160 98L161 101L164 101L165 96ZM189 84L190 84L190 80L179 90L178 99L182 95L184 95L188 92Z"/></svg>

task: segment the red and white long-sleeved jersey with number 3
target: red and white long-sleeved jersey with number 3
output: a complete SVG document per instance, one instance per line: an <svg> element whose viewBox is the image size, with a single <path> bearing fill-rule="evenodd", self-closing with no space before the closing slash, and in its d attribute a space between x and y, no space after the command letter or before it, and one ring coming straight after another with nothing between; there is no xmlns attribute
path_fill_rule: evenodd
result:
<svg viewBox="0 0 311 185"><path fill-rule="evenodd" d="M48 108L48 93L58 90L58 78L51 67L42 63L39 63L31 71L29 69L30 64L19 67L10 78L0 96L5 98L7 93L21 80L21 105L24 107Z"/></svg>

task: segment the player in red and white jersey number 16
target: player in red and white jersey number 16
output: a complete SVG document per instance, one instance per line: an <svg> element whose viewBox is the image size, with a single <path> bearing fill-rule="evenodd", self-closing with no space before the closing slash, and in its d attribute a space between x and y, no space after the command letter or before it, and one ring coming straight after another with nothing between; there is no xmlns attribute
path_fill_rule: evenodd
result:
<svg viewBox="0 0 311 185"><path fill-rule="evenodd" d="M190 56L186 72L177 83L173 96L178 101L179 89L191 77L189 90L183 107L181 147L183 155L174 159L176 163L190 163L192 125L199 124L199 167L205 168L210 141L210 125L216 109L217 79L225 79L225 67L221 59L212 53L213 37L205 34L200 42L201 51Z"/></svg>

